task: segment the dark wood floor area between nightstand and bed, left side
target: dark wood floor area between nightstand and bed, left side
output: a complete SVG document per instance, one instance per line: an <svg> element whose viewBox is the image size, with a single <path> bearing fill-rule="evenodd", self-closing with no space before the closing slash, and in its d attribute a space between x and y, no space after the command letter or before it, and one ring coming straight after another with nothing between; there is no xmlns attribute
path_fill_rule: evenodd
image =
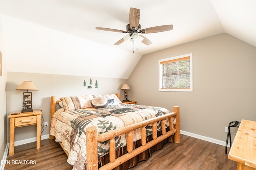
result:
<svg viewBox="0 0 256 170"><path fill-rule="evenodd" d="M67 162L68 156L54 140L44 139L41 148L36 149L36 142L14 147L14 155L7 156L10 164L5 162L5 170L72 170L73 166ZM31 164L27 161L35 161ZM16 162L15 162L16 161ZM20 162L17 162L20 161Z"/></svg>

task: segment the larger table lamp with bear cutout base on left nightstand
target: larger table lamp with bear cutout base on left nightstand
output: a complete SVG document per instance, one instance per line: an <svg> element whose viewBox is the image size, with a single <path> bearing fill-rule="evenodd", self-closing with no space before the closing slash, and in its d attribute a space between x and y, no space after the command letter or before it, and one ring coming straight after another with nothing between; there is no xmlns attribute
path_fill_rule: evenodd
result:
<svg viewBox="0 0 256 170"><path fill-rule="evenodd" d="M38 90L33 82L24 81L20 86L16 88L16 90L27 90L27 92L23 92L22 99L22 113L33 111L32 109L32 92L28 92L28 90Z"/></svg>

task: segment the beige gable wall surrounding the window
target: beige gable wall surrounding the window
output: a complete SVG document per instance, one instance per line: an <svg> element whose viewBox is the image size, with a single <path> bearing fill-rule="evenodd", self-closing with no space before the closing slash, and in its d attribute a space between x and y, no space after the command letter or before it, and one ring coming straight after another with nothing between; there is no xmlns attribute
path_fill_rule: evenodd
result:
<svg viewBox="0 0 256 170"><path fill-rule="evenodd" d="M159 92L158 60L193 53L193 92ZM144 55L128 79L130 100L173 110L180 128L226 140L230 121L256 121L256 47L226 33Z"/></svg>

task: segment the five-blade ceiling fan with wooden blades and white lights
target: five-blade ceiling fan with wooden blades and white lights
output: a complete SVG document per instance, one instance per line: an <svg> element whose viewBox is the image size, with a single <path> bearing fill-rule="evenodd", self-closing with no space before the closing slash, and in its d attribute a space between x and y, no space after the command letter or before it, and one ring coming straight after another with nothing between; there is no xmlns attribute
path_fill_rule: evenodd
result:
<svg viewBox="0 0 256 170"><path fill-rule="evenodd" d="M140 34L158 33L158 32L172 30L172 25L161 25L161 26L141 29L141 25L139 24L140 10L136 9L136 8L130 8L129 21L130 21L130 23L128 23L128 25L126 25L126 31L122 31L122 30L118 30L118 29L111 29L111 28L103 28L103 27L96 27L96 29L103 30L103 31L128 33L128 35L124 36L122 39L117 41L114 45L120 45L124 41L132 41L132 42L139 41L146 45L150 45L150 44L152 44L152 42Z"/></svg>

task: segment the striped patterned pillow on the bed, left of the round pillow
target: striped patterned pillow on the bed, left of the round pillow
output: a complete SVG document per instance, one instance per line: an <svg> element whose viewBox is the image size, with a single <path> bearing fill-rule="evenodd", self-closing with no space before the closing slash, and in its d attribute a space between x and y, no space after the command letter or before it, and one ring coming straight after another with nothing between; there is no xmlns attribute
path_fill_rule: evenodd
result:
<svg viewBox="0 0 256 170"><path fill-rule="evenodd" d="M94 99L92 95L73 97L68 96L60 98L64 111L92 107L92 99Z"/></svg>

